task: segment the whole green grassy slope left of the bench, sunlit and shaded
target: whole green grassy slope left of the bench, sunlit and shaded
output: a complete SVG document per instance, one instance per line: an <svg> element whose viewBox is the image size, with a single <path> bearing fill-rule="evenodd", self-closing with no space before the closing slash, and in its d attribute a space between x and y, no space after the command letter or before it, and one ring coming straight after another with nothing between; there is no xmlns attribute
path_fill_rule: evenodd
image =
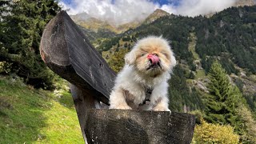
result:
<svg viewBox="0 0 256 144"><path fill-rule="evenodd" d="M0 77L0 143L84 143L70 93Z"/></svg>

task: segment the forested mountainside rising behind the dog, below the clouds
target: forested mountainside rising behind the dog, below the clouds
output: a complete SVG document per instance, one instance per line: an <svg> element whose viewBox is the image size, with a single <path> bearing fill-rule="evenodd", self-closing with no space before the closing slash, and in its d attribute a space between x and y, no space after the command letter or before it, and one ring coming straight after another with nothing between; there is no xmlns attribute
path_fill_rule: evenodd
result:
<svg viewBox="0 0 256 144"><path fill-rule="evenodd" d="M207 74L218 59L256 115L256 6L230 7L210 18L170 14L106 39L96 48L107 62L113 62L119 51L128 51L148 35L168 39L178 60L170 80L172 110L204 109Z"/></svg>

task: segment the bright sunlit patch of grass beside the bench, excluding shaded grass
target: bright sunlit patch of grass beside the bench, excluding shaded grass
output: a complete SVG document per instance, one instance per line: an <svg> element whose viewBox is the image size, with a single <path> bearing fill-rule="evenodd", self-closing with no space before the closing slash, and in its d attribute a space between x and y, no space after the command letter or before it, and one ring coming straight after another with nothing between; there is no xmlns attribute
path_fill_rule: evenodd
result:
<svg viewBox="0 0 256 144"><path fill-rule="evenodd" d="M38 139L42 143L84 143L78 124L77 114L73 109L53 102L50 110L44 112L46 126L40 132L46 138Z"/></svg>

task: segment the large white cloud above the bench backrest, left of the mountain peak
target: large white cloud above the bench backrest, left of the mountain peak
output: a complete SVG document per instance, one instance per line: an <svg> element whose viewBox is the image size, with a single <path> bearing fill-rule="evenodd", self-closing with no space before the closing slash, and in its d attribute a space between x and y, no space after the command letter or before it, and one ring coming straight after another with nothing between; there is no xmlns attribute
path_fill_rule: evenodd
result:
<svg viewBox="0 0 256 144"><path fill-rule="evenodd" d="M159 6L147 0L74 0L75 7L60 4L65 9L70 9L68 14L86 12L94 18L98 18L112 24L124 24L134 20L142 21L153 13Z"/></svg>

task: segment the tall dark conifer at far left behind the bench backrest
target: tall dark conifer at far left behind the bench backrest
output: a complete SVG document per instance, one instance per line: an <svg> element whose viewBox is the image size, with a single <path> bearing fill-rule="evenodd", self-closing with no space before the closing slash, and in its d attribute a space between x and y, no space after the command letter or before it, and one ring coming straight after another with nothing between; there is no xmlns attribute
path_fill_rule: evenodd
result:
<svg viewBox="0 0 256 144"><path fill-rule="evenodd" d="M52 76L42 62L39 44L42 30L60 11L54 0L20 0L10 2L10 14L2 18L1 62L10 65L10 73L26 78L36 87L50 88Z"/></svg>

